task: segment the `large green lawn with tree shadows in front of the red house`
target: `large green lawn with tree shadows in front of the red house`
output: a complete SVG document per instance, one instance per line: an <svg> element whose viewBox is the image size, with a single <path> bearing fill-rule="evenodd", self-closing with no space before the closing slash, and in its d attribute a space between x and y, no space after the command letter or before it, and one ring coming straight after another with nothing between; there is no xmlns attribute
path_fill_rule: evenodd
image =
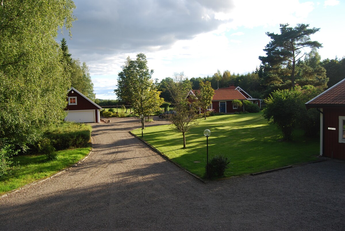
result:
<svg viewBox="0 0 345 231"><path fill-rule="evenodd" d="M283 142L282 133L275 124L267 123L262 113L242 115L219 115L201 120L186 135L183 149L181 133L169 125L146 127L144 140L163 155L191 173L204 177L206 166L205 129L211 131L208 138L209 159L224 154L231 163L225 176L238 176L288 165L313 161L319 155L319 139L309 139L302 131L294 133L295 141ZM132 131L140 135L141 130ZM201 161L194 163L194 161Z"/></svg>

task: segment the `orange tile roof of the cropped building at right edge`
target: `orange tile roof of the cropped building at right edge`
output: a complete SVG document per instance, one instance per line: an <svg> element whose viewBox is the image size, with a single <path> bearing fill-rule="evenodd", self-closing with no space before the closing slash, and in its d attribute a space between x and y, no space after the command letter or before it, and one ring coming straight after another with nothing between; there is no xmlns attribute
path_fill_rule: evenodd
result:
<svg viewBox="0 0 345 231"><path fill-rule="evenodd" d="M345 106L345 78L306 103L312 106Z"/></svg>

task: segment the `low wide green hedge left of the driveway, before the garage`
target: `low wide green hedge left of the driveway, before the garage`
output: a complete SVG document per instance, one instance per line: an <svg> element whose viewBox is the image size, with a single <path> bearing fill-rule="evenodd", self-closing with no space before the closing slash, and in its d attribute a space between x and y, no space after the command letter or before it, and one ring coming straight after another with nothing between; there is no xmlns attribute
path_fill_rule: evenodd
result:
<svg viewBox="0 0 345 231"><path fill-rule="evenodd" d="M65 122L60 126L47 128L43 135L51 140L56 150L87 147L91 138L91 126Z"/></svg>

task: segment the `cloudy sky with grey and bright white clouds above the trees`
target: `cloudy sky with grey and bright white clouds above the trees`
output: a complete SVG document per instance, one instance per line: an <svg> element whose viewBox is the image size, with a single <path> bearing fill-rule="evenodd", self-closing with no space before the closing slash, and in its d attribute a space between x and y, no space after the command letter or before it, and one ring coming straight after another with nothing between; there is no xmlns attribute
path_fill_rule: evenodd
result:
<svg viewBox="0 0 345 231"><path fill-rule="evenodd" d="M144 53L153 78L175 72L204 77L219 69L248 73L260 65L280 23L321 28L322 59L345 55L343 13L338 0L74 0L73 59L86 62L96 97L115 99L117 74L126 57Z"/></svg>

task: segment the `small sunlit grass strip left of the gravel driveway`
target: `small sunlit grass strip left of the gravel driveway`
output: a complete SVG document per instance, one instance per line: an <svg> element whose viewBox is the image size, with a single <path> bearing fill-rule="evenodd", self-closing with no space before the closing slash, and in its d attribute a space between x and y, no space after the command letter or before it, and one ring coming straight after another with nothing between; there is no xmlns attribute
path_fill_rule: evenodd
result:
<svg viewBox="0 0 345 231"><path fill-rule="evenodd" d="M14 156L13 162L18 162L19 165L12 175L0 179L0 195L70 167L87 156L90 150L87 147L57 151L57 159L50 161L44 155Z"/></svg>

